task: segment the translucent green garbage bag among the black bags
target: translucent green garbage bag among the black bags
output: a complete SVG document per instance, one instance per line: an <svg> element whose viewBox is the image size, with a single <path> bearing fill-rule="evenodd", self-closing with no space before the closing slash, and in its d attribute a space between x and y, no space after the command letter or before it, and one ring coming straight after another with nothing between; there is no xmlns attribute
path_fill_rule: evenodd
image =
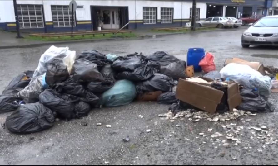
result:
<svg viewBox="0 0 278 166"><path fill-rule="evenodd" d="M118 80L112 88L102 94L101 105L105 107L117 107L126 105L136 97L134 83L129 80Z"/></svg>

